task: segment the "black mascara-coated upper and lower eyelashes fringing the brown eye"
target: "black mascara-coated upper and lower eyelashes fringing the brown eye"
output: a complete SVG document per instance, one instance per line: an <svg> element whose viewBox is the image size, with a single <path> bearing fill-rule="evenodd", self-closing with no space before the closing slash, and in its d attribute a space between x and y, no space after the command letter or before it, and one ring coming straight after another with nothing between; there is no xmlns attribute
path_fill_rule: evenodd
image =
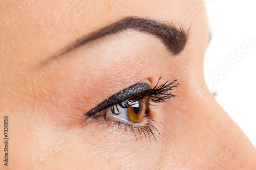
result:
<svg viewBox="0 0 256 170"><path fill-rule="evenodd" d="M157 142L157 138L160 138L158 135L160 135L158 129L156 128L156 125L158 125L159 122L156 122L153 118L151 118L148 115L148 112L150 111L148 106L151 106L151 103L159 103L159 102L165 102L166 100L175 97L176 95L173 95L170 90L173 90L174 87L178 87L179 84L176 84L177 80L174 80L172 82L167 81L162 85L159 85L159 81L162 77L159 78L156 86L153 89L146 90L144 93L135 94L130 99L127 99L125 102L117 103L114 106L109 107L108 109L105 109L102 111L103 117L108 123L108 125L117 125L117 127L121 128L124 127L125 130L130 129L135 135L135 138L137 140L137 135L142 139L142 135L144 134L146 139L149 139L151 142L151 138L153 138ZM119 105L120 107L127 108L128 106L131 106L131 103L142 100L144 98L147 98L146 100L146 115L144 117L147 119L144 125L136 125L136 123L126 123L121 120L113 119L108 117L108 112L111 111L111 115L118 115L118 113L115 113L115 107Z"/></svg>

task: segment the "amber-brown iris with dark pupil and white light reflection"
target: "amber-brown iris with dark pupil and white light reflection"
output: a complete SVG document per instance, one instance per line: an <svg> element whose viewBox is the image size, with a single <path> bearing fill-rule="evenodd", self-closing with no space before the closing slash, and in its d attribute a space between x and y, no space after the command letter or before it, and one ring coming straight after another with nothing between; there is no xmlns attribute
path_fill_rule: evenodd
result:
<svg viewBox="0 0 256 170"><path fill-rule="evenodd" d="M144 99L134 102L132 106L127 108L127 116L129 121L134 123L141 122L145 114L145 109L146 104Z"/></svg>

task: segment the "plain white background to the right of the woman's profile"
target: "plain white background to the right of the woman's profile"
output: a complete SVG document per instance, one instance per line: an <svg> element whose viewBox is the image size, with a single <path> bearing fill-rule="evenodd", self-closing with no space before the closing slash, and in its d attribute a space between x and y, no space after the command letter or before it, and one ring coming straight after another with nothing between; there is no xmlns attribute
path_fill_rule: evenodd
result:
<svg viewBox="0 0 256 170"><path fill-rule="evenodd" d="M205 3L212 32L205 56L205 80L211 79L210 91L217 92L216 100L256 147L256 44L236 64L227 61L232 53L241 52L246 39L256 42L256 1ZM216 83L212 72L224 65L229 71Z"/></svg>

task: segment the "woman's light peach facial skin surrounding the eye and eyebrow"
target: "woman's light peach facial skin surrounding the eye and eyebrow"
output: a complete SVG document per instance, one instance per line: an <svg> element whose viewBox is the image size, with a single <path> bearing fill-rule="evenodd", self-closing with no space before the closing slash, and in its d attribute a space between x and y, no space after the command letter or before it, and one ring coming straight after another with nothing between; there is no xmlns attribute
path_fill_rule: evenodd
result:
<svg viewBox="0 0 256 170"><path fill-rule="evenodd" d="M10 138L9 163L1 169L256 169L255 148L206 88L206 10L183 18L199 1L28 3L10 23L6 17L19 1L0 6L0 115L9 117ZM174 56L155 36L128 30L40 65L80 36L127 16L190 27L184 50ZM49 67L30 90L28 83ZM140 81L154 87L160 75L161 83L179 79L180 86L173 90L179 97L152 108L162 123L157 142L136 140L104 119L85 123L84 112Z"/></svg>

